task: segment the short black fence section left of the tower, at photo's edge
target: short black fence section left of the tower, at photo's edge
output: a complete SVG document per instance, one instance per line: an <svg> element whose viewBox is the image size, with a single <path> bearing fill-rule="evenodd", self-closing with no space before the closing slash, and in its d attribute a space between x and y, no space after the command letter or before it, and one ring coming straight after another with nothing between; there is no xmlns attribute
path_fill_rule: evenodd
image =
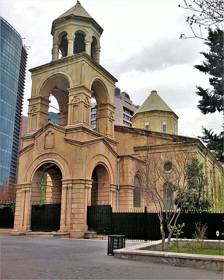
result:
<svg viewBox="0 0 224 280"><path fill-rule="evenodd" d="M0 204L0 228L13 228L15 203Z"/></svg>

